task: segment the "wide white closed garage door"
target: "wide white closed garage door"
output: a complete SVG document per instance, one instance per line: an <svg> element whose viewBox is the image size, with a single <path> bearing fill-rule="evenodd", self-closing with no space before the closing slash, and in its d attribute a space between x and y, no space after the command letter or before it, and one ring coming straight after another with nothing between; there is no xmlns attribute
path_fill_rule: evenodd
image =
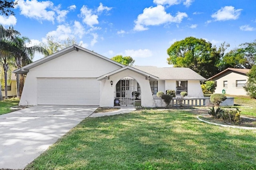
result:
<svg viewBox="0 0 256 170"><path fill-rule="evenodd" d="M100 105L95 78L38 78L38 105Z"/></svg>

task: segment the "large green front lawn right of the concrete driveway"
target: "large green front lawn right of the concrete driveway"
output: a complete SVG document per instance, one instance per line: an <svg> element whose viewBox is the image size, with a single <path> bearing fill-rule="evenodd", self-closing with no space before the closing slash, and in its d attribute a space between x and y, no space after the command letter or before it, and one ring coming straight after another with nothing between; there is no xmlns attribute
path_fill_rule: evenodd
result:
<svg viewBox="0 0 256 170"><path fill-rule="evenodd" d="M245 170L256 168L256 130L203 123L182 110L86 118L27 170Z"/></svg>

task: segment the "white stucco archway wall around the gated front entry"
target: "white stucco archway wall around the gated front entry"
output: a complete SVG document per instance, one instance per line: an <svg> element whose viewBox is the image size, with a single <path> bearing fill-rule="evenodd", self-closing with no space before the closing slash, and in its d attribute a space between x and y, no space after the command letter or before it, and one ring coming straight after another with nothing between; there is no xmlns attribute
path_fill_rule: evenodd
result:
<svg viewBox="0 0 256 170"><path fill-rule="evenodd" d="M114 91L117 82L126 77L134 78L140 84L140 98L142 107L155 107L154 99L151 93L149 80L146 80L145 76L133 72L131 70L123 70L109 77L109 80L100 81L100 107L113 107L114 106ZM113 86L110 85L110 81L113 81Z"/></svg>

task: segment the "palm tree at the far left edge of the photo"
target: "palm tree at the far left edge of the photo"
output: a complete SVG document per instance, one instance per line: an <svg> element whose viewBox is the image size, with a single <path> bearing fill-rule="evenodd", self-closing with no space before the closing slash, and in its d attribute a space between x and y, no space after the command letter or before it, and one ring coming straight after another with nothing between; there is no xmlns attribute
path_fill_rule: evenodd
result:
<svg viewBox="0 0 256 170"><path fill-rule="evenodd" d="M12 47L11 44L12 44L12 40L14 39L14 36L19 35L19 34L20 33L18 31L14 30L11 27L9 27L9 29L6 29L2 25L0 25L0 64L2 65L2 67L4 69L5 99L8 98L8 95L7 95L7 81L8 81L7 72L9 70L9 66L12 61L11 51L14 50L14 47ZM3 100L2 92L0 94L0 100Z"/></svg>

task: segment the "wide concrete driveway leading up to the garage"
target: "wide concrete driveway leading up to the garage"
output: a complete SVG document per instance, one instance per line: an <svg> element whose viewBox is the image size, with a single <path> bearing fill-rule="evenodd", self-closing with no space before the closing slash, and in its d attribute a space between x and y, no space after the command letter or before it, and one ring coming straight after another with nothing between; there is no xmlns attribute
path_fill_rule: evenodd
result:
<svg viewBox="0 0 256 170"><path fill-rule="evenodd" d="M0 169L23 169L97 109L33 106L0 115Z"/></svg>

